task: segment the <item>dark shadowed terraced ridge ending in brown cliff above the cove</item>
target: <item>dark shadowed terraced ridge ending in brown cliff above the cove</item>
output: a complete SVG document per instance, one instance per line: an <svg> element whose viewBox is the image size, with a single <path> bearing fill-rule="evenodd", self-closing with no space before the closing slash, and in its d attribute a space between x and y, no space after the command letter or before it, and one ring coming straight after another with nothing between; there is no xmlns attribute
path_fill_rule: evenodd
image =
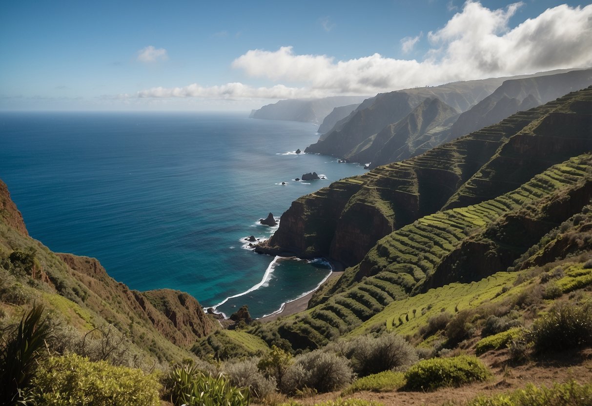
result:
<svg viewBox="0 0 592 406"><path fill-rule="evenodd" d="M591 111L592 88L572 92L412 159L333 183L292 202L258 251L356 265L379 239L420 217L494 198L591 150Z"/></svg>

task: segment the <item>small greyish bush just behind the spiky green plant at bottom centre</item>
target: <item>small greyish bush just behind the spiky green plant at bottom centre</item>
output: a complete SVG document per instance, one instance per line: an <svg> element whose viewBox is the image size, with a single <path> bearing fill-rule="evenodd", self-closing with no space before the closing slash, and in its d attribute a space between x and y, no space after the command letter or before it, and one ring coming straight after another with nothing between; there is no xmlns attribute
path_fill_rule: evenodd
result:
<svg viewBox="0 0 592 406"><path fill-rule="evenodd" d="M229 361L224 364L224 373L234 386L249 388L256 398L265 398L276 391L275 379L265 378L257 368L259 359L250 358L243 361Z"/></svg>

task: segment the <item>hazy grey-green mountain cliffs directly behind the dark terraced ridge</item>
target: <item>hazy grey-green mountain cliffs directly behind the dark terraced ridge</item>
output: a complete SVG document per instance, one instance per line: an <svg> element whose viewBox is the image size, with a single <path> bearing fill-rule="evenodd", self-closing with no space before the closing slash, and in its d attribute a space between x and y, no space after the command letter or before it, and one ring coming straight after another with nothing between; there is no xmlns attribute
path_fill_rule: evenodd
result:
<svg viewBox="0 0 592 406"><path fill-rule="evenodd" d="M591 69L560 70L379 94L366 99L305 152L343 157L352 162L372 162L371 167L408 159L518 111L585 88L592 84L591 75ZM426 131L416 133L412 129L408 134L403 131L395 136L395 126L409 125L416 116L414 109L432 99L439 99L446 109L462 114L450 113L443 117L445 120L436 116ZM387 146L389 140L392 143Z"/></svg>

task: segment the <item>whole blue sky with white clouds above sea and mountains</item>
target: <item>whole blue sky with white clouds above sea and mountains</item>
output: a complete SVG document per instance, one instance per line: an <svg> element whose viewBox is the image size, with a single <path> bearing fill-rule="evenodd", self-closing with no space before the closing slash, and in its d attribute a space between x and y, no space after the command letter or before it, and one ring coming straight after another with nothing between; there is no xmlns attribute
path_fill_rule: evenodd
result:
<svg viewBox="0 0 592 406"><path fill-rule="evenodd" d="M246 110L586 67L591 44L585 2L22 0L0 13L0 109Z"/></svg>

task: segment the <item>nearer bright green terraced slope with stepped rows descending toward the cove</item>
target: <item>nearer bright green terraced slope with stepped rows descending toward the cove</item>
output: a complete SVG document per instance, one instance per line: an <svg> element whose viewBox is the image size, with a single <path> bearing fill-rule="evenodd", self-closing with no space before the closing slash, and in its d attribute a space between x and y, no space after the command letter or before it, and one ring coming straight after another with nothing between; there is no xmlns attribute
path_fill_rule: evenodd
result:
<svg viewBox="0 0 592 406"><path fill-rule="evenodd" d="M277 331L294 347L314 348L409 295L452 281L487 278L529 248L528 242L507 244L504 227L510 231L517 223L536 223L534 231L525 227L522 233L526 241L536 244L591 199L592 155L588 153L555 165L490 201L424 216L379 240L358 266L346 269L332 291L314 299L316 307L281 321ZM508 238L516 240L522 234ZM484 249L475 250L474 245L480 243ZM467 244L469 250L465 250ZM479 262L466 260L467 253ZM406 321L409 317L404 316Z"/></svg>

